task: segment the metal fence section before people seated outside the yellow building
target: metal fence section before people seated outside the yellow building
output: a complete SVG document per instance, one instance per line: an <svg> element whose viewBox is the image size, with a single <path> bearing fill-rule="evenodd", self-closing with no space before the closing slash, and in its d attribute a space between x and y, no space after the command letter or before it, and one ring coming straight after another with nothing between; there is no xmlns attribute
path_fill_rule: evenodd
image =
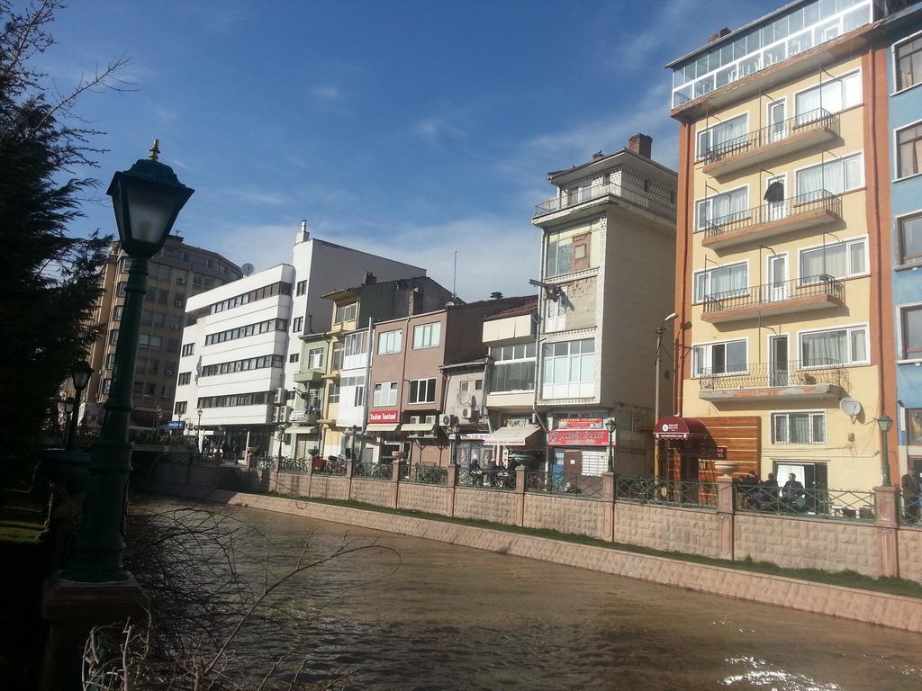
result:
<svg viewBox="0 0 922 691"><path fill-rule="evenodd" d="M855 490L739 485L734 491L739 511L810 516L823 519L874 520L874 493Z"/></svg>

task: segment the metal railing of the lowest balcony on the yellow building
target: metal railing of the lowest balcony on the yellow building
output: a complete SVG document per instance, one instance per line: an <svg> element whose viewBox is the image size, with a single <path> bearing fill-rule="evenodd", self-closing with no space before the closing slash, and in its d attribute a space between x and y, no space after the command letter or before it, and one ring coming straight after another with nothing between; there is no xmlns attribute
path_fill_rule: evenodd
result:
<svg viewBox="0 0 922 691"><path fill-rule="evenodd" d="M745 367L745 369L743 369ZM749 363L734 367L727 364L719 371L702 369L698 374L702 390L771 389L775 387L833 384L848 391L848 370L829 358L788 360L784 365Z"/></svg>

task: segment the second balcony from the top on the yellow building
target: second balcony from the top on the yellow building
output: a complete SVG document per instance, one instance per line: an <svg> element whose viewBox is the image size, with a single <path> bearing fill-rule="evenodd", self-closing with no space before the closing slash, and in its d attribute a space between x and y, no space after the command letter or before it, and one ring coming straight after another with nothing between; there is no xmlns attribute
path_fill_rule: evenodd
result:
<svg viewBox="0 0 922 691"><path fill-rule="evenodd" d="M842 197L818 190L713 218L704 228L701 244L703 247L721 250L795 230L822 226L841 218Z"/></svg>

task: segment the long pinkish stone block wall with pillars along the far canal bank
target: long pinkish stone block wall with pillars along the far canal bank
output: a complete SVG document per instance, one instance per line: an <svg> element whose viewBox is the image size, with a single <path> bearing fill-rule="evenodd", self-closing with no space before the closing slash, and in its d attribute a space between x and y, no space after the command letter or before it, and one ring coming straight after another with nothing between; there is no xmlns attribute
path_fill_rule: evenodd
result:
<svg viewBox="0 0 922 691"><path fill-rule="evenodd" d="M623 545L727 560L751 559L786 568L856 571L872 577L898 576L922 583L922 528L896 520L898 490L875 491L874 520L821 519L735 509L729 479L717 482L713 507L683 507L615 497L615 478L602 476L595 498L526 491L524 468L514 488L465 486L449 466L440 484L410 482L392 469L389 479L291 473L158 463L151 488L203 497L212 490L244 490L289 497L353 500L389 509L408 509L460 519L586 535ZM229 474L234 482L229 481Z"/></svg>

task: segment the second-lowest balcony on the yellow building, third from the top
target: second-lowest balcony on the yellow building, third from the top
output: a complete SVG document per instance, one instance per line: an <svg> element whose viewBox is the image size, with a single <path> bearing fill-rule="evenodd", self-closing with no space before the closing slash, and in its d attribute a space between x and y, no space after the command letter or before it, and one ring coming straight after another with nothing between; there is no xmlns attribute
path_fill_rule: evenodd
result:
<svg viewBox="0 0 922 691"><path fill-rule="evenodd" d="M845 286L830 275L806 276L715 293L704 299L703 322L737 322L774 314L828 310L845 304Z"/></svg>

